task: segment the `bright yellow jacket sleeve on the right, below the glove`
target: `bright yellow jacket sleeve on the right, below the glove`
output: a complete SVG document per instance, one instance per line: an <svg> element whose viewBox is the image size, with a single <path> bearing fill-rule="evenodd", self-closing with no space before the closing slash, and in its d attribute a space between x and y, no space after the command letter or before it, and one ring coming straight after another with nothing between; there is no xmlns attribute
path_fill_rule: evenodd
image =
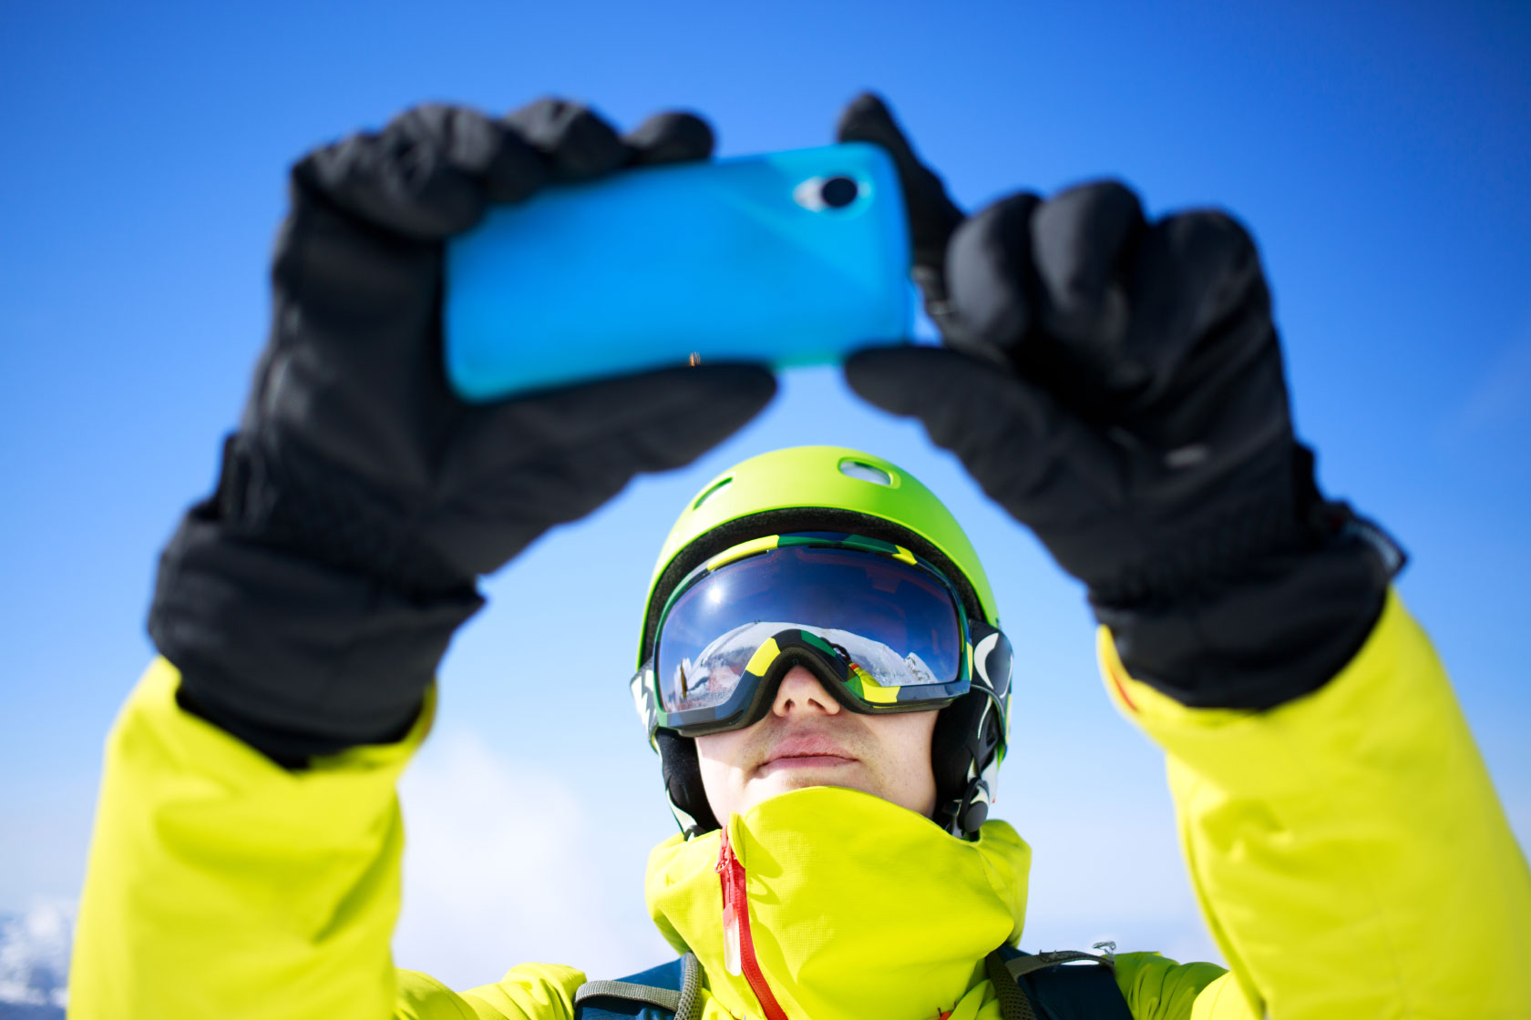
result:
<svg viewBox="0 0 1531 1020"><path fill-rule="evenodd" d="M1191 881L1242 989L1214 980L1177 1015L1525 1015L1531 873L1396 593L1344 670L1268 711L1185 708L1127 676L1105 630L1099 656L1165 751Z"/></svg>

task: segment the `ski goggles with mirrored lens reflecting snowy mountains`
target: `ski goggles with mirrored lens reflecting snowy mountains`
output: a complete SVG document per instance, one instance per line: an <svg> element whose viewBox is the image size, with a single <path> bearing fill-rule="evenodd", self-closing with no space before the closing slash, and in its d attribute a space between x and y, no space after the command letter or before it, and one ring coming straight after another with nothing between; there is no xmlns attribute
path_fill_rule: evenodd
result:
<svg viewBox="0 0 1531 1020"><path fill-rule="evenodd" d="M675 586L632 693L651 734L663 726L687 737L758 722L799 664L851 711L928 711L972 690L975 644L987 667L978 682L1003 699L1004 635L969 621L931 563L860 535L769 535Z"/></svg>

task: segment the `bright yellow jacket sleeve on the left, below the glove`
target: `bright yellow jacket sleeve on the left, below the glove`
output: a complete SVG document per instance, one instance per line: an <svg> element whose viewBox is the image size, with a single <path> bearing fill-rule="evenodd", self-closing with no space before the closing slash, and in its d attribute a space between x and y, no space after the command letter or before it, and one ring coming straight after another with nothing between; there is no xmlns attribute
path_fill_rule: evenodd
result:
<svg viewBox="0 0 1531 1020"><path fill-rule="evenodd" d="M156 659L107 739L80 905L75 1020L563 1020L583 976L516 968L462 992L395 971L400 743L286 771L176 705Z"/></svg>

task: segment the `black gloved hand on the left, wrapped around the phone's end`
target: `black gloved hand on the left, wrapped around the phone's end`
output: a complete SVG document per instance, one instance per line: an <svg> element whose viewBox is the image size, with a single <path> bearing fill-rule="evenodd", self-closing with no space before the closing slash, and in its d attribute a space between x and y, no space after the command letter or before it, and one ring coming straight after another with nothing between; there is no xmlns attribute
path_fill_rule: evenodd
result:
<svg viewBox="0 0 1531 1020"><path fill-rule="evenodd" d="M185 708L294 766L398 737L481 606L478 575L770 401L756 365L490 405L446 379L447 237L545 184L710 151L690 115L619 138L545 99L504 121L419 107L297 162L271 338L217 491L165 549L150 610Z"/></svg>

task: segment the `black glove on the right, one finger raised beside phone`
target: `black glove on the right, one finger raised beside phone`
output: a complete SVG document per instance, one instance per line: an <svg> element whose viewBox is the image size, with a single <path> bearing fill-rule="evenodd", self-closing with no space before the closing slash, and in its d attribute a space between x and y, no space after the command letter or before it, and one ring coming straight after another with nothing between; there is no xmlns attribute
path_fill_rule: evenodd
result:
<svg viewBox="0 0 1531 1020"><path fill-rule="evenodd" d="M1245 229L1211 211L1147 222L1115 182L965 220L874 96L841 139L894 154L946 344L862 352L851 388L919 417L1032 528L1139 679L1266 708L1334 676L1401 554L1318 494Z"/></svg>

